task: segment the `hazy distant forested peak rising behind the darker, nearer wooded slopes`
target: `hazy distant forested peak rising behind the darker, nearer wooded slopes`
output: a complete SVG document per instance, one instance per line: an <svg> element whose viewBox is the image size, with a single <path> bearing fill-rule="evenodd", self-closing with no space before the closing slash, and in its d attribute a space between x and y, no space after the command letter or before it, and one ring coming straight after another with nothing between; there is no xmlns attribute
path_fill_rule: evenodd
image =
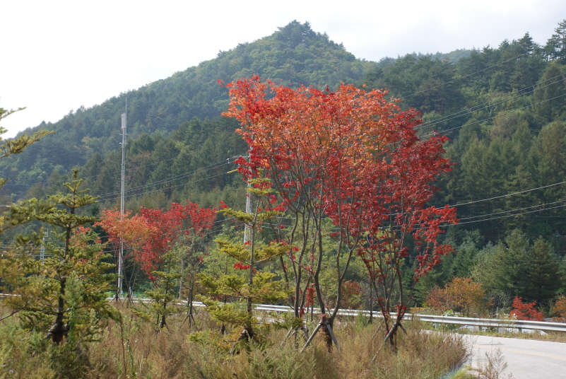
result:
<svg viewBox="0 0 566 379"><path fill-rule="evenodd" d="M19 194L29 183L47 179L53 170L84 165L95 153L107 156L121 141L120 115L126 109L126 97L131 139L144 132L167 136L182 122L194 117L213 119L225 111L228 95L218 80L228 83L259 74L285 84L328 84L336 88L341 81L359 81L373 66L375 63L356 59L327 35L315 33L308 23L293 21L269 37L219 52L216 59L170 78L89 109L81 107L54 124L41 124L34 129L54 130L57 134L6 163L8 166L3 165L0 173L10 177L12 184L24 186L13 191ZM13 172L12 168L17 169Z"/></svg>

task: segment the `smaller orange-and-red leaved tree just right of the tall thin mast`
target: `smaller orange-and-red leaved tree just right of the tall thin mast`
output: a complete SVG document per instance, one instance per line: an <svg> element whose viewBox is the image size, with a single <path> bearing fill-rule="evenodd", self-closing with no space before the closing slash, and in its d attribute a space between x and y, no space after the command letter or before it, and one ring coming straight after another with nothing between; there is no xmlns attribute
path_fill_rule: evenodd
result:
<svg viewBox="0 0 566 379"><path fill-rule="evenodd" d="M114 245L123 242L131 257L155 285L146 294L153 298L153 313L160 327L167 325L166 317L177 310L171 306L176 295L173 290L183 274L184 262L189 263L189 319L194 270L200 263L202 240L212 228L217 209L200 208L197 204L173 203L169 209L142 208L135 216L122 217L117 210L102 211L99 225L107 231ZM177 249L177 250L175 250ZM177 264L178 263L178 264ZM140 315L149 318L150 315Z"/></svg>

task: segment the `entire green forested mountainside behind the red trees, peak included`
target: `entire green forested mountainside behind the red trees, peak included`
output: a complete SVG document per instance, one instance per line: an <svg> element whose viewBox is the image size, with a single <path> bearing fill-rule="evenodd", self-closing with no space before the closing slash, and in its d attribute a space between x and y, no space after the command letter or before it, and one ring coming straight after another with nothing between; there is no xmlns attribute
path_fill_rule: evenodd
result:
<svg viewBox="0 0 566 379"><path fill-rule="evenodd" d="M0 177L11 178L4 193L12 199L40 197L54 192L61 175L78 165L102 205L114 206L119 117L127 96L126 206L187 199L207 206L223 199L237 207L244 202L244 189L230 171L233 157L245 155L246 145L233 132L237 124L219 116L228 95L218 79L259 74L284 85L335 88L344 81L387 88L401 98L401 107L422 112L423 138L436 131L452 139L447 156L456 163L439 183L435 202L458 207L460 226L450 226L446 238L459 254L419 284L421 293L453 276L475 276L493 291L514 281L506 284L497 277L520 276L532 281L515 292L541 300L535 291L541 279L531 262L540 262L542 271L552 262L550 271L558 275L566 254L565 55L566 21L544 46L526 33L498 47L407 54L377 63L356 59L308 23L293 22L170 78L40 125L57 134L1 162ZM535 242L539 237L543 242ZM529 264L496 265L512 261L505 257L509 250ZM480 269L494 265L508 271ZM560 289L560 281L553 281L544 296Z"/></svg>

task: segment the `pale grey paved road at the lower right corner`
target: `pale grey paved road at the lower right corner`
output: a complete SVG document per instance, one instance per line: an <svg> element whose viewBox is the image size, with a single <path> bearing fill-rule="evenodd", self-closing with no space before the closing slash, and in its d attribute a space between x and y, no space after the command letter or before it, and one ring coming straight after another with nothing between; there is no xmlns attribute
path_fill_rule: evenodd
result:
<svg viewBox="0 0 566 379"><path fill-rule="evenodd" d="M486 353L494 356L501 349L507 369L500 378L566 378L566 343L472 335L466 342L472 346L472 368L485 363Z"/></svg>

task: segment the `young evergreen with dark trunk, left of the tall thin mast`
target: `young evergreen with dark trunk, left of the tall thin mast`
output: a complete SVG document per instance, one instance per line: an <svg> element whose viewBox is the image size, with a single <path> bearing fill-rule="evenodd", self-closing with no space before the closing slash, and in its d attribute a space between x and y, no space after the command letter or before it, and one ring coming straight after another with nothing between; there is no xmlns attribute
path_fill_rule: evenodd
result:
<svg viewBox="0 0 566 379"><path fill-rule="evenodd" d="M67 193L50 196L52 207L35 215L56 228L50 240L41 242L45 260L38 260L33 248L41 235L36 235L35 240L18 236L9 257L11 269L20 273L12 278L18 296L9 299L10 305L23 309L21 316L29 325L40 325L42 320L54 317L47 338L57 344L69 332L83 339L94 337L100 323L114 315L105 298L114 279L114 274L107 272L114 265L102 262L107 258L102 251L104 245L87 226L96 218L77 214L79 208L96 202L95 197L86 194L87 189L81 189L81 184L75 169L73 180L64 184Z"/></svg>

